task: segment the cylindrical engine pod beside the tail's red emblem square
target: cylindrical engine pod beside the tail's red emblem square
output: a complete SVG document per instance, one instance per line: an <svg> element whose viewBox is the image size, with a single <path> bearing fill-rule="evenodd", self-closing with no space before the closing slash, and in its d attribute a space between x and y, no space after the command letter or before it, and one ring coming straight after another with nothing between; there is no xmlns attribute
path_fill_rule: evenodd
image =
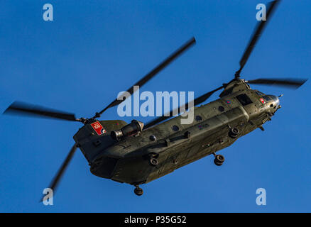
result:
<svg viewBox="0 0 311 227"><path fill-rule="evenodd" d="M133 120L131 123L121 128L121 130L111 131L110 135L114 140L120 140L121 138L137 135L141 131L143 131L143 123L141 121Z"/></svg>

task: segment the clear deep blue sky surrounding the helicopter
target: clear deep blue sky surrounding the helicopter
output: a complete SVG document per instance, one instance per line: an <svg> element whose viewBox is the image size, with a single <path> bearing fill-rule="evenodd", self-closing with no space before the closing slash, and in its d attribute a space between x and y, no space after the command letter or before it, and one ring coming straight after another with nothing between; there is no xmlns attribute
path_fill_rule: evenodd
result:
<svg viewBox="0 0 311 227"><path fill-rule="evenodd" d="M0 112L20 100L93 116L192 36L197 45L141 90L200 96L234 76L256 25L256 4L267 2L1 1ZM54 21L43 21L46 3ZM307 0L281 2L242 77L309 78L310 9ZM142 185L141 197L129 184L92 175L78 150L54 205L38 203L81 125L1 115L0 211L310 212L310 80L298 90L253 88L284 94L266 131L219 151L222 167L204 157ZM113 108L101 119L116 118ZM256 205L260 187L266 206Z"/></svg>

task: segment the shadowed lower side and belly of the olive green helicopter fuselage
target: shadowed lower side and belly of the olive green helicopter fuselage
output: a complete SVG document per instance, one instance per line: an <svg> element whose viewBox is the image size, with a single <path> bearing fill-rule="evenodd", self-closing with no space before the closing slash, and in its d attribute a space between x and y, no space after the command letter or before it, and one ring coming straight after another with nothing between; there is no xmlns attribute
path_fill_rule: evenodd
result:
<svg viewBox="0 0 311 227"><path fill-rule="evenodd" d="M248 131L253 131L256 127L248 124L243 129L246 128L249 128ZM165 150L158 156L159 164L155 167L151 166L148 158L143 156L124 157L119 160L113 157L102 157L100 167L96 167L96 170L91 167L91 172L98 177L112 179L116 182L145 184L202 157L227 148L237 139L229 138L227 128L224 128L218 136L215 135L215 138L217 139L214 141L209 140L210 143L207 143L207 138L202 138L195 143L196 145L192 143L192 147L184 145L179 148Z"/></svg>

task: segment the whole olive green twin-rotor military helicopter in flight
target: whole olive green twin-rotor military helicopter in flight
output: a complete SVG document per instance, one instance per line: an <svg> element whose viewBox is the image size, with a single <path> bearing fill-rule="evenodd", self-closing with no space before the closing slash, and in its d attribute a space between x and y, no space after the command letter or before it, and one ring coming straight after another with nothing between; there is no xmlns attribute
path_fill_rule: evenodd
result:
<svg viewBox="0 0 311 227"><path fill-rule="evenodd" d="M115 99L91 118L76 118L75 114L21 102L14 102L4 113L32 114L83 123L82 128L73 136L75 145L50 183L49 187L54 191L77 148L80 148L87 159L93 175L131 184L138 196L143 194L143 189L139 187L141 184L163 177L207 155L214 155L214 164L220 166L224 162L224 156L216 154L218 150L227 148L256 128L264 130L263 123L270 121L280 109L278 96L263 94L251 89L249 84L298 88L306 82L306 79L246 80L240 77L241 70L278 4L278 0L268 4L266 21L258 22L241 57L240 68L236 71L234 79L193 100L195 107L192 111L195 119L190 124L180 123L182 115L173 118L174 111L170 111L169 116L160 116L146 125L136 120L131 123L121 120L97 120L104 111L119 105L126 98ZM195 38L188 40L135 85L142 87L193 44ZM197 107L221 89L223 91L219 94L219 99ZM127 92L133 94L133 87ZM183 110L188 110L188 107L187 103ZM178 112L181 114L180 109Z"/></svg>

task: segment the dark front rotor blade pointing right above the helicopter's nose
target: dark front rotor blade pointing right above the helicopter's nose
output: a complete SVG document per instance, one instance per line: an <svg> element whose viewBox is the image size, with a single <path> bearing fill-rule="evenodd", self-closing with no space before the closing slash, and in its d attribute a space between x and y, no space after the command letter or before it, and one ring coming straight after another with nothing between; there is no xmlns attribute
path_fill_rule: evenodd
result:
<svg viewBox="0 0 311 227"><path fill-rule="evenodd" d="M249 80L249 84L270 84L273 86L290 87L298 89L302 84L305 84L307 79L253 79Z"/></svg>

